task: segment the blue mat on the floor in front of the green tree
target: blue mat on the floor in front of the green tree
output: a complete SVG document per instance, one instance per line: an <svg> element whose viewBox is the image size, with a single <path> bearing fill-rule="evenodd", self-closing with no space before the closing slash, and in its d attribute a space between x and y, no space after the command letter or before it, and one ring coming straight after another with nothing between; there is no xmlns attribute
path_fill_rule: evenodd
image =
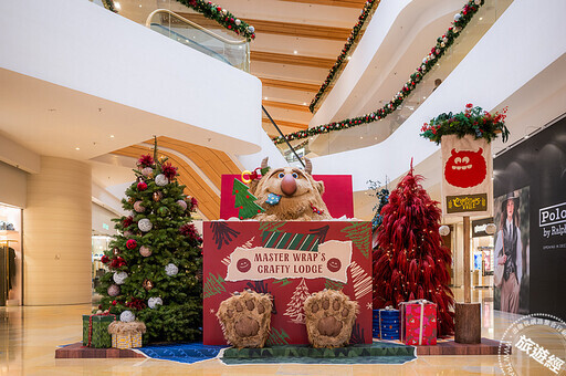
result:
<svg viewBox="0 0 566 376"><path fill-rule="evenodd" d="M227 346L206 346L201 343L175 345L154 345L139 348L148 357L180 363L196 363L217 357L220 349Z"/></svg>

